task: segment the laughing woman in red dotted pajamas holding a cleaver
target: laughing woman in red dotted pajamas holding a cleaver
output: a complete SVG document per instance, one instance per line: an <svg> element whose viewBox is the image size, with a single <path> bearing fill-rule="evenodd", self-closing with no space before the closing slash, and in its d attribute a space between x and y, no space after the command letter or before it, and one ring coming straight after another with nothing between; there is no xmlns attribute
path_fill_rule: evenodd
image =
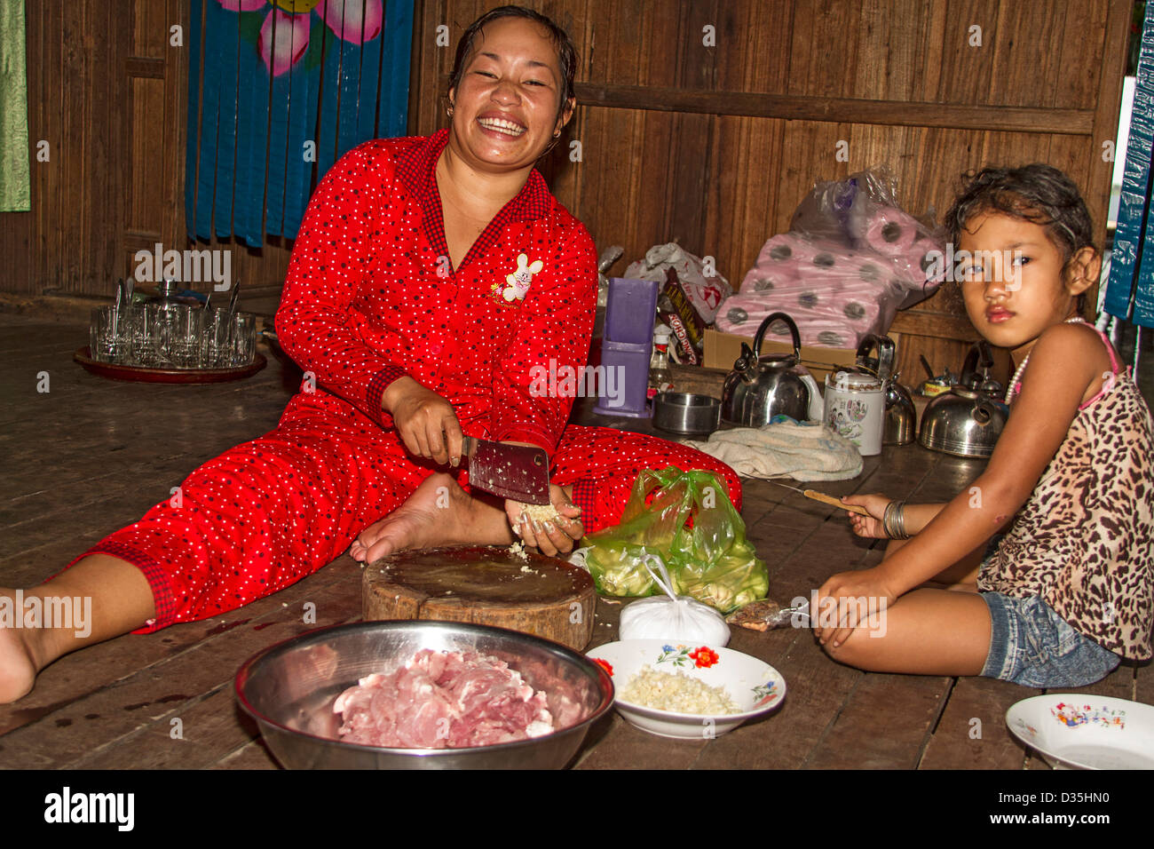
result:
<svg viewBox="0 0 1154 849"><path fill-rule="evenodd" d="M572 114L574 66L547 18L496 9L458 46L450 129L361 144L329 171L276 318L301 392L273 431L24 593L92 597L91 633L0 630L0 702L68 651L233 610L346 550L372 560L516 533L569 551L619 519L645 468L717 471L740 508L719 461L567 426L574 399L534 392L534 367L585 364L597 298L592 239L533 170ZM537 524L471 492L463 435L545 448L562 517Z"/></svg>

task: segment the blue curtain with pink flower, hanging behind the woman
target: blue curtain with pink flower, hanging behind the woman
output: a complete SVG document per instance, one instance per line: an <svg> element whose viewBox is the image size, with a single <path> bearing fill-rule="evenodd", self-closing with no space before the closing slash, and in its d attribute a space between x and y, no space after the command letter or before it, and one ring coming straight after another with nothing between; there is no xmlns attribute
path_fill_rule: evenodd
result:
<svg viewBox="0 0 1154 849"><path fill-rule="evenodd" d="M405 134L412 30L413 0L193 0L189 238L295 238L334 162Z"/></svg>

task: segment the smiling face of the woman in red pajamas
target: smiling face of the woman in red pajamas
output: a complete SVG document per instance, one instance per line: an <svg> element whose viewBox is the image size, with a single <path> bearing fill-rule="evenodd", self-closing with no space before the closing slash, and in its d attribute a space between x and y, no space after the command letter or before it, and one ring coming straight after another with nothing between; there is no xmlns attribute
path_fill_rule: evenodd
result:
<svg viewBox="0 0 1154 849"><path fill-rule="evenodd" d="M557 51L540 25L518 17L487 24L449 90L459 154L482 170L532 166L572 113L567 104L557 116L561 90Z"/></svg>

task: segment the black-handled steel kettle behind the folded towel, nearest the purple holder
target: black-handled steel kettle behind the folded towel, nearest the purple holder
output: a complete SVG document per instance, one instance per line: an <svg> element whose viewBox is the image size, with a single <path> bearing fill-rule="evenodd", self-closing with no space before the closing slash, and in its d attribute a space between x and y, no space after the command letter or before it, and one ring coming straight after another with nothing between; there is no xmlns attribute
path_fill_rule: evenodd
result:
<svg viewBox="0 0 1154 849"><path fill-rule="evenodd" d="M756 351L762 350L765 330L774 321L785 321L789 327L793 353L758 357ZM741 356L726 377L721 389L722 420L743 427L760 427L778 414L799 422L811 418L820 393L817 381L800 365L800 360L801 334L797 333L797 325L786 313L767 315L757 328L752 350L743 342Z"/></svg>

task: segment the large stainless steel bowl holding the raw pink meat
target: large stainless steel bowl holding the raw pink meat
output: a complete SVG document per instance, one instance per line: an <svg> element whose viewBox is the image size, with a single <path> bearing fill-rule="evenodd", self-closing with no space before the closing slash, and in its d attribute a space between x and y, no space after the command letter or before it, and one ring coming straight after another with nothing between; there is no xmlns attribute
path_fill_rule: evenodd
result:
<svg viewBox="0 0 1154 849"><path fill-rule="evenodd" d="M422 648L495 655L544 690L561 730L474 749L384 749L342 743L332 702L358 679L395 669ZM237 700L290 769L560 769L613 706L599 665L560 643L487 625L367 621L310 631L250 657Z"/></svg>

